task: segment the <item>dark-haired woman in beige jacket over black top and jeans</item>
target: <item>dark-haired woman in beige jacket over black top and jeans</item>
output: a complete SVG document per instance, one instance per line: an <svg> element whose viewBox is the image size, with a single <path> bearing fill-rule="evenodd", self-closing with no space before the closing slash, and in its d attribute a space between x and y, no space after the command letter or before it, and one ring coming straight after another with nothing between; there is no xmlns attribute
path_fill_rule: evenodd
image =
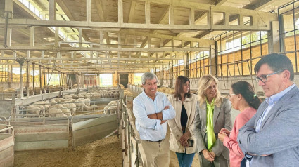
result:
<svg viewBox="0 0 299 167"><path fill-rule="evenodd" d="M176 116L168 120L170 126L170 150L177 154L179 166L191 166L195 154L193 121L197 96L190 93L190 81L186 76L177 77L174 95L168 100Z"/></svg>

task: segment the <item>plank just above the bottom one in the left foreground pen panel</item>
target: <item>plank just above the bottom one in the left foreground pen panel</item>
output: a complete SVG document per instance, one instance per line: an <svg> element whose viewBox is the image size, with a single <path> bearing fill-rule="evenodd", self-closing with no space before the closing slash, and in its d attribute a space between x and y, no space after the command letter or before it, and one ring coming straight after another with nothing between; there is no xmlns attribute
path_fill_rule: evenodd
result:
<svg viewBox="0 0 299 167"><path fill-rule="evenodd" d="M35 141L49 141L49 140L68 140L68 132L63 133L23 133L15 134L15 142L35 142Z"/></svg>

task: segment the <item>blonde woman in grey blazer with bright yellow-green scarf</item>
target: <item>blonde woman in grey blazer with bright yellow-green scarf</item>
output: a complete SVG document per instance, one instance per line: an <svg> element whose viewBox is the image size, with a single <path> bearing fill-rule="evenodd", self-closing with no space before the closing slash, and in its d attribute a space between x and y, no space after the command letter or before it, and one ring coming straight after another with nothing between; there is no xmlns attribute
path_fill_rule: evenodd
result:
<svg viewBox="0 0 299 167"><path fill-rule="evenodd" d="M201 167L229 166L229 149L217 134L222 128L231 130L231 105L221 97L217 84L218 80L210 74L198 81L194 135Z"/></svg>

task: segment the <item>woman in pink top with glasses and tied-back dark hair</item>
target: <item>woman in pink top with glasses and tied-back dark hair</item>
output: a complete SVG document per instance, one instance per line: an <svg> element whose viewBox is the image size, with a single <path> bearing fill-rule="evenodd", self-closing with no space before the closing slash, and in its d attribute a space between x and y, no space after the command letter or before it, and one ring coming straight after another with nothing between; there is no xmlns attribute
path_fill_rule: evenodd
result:
<svg viewBox="0 0 299 167"><path fill-rule="evenodd" d="M236 141L238 130L253 117L262 101L255 95L253 86L246 81L238 81L232 84L228 96L234 109L239 110L241 113L236 116L234 128L231 131L222 128L218 133L218 138L229 149L230 166L239 167L244 155Z"/></svg>

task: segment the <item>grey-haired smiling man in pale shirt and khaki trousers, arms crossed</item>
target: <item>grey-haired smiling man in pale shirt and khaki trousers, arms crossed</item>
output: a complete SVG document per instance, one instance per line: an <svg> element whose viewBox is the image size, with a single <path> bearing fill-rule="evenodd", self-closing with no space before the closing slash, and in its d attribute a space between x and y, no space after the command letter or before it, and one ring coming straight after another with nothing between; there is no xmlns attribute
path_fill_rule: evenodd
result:
<svg viewBox="0 0 299 167"><path fill-rule="evenodd" d="M144 166L170 164L170 143L165 140L167 120L175 117L174 107L164 93L157 92L157 76L146 72L141 76L144 92L133 100L133 113L141 145L146 154Z"/></svg>

